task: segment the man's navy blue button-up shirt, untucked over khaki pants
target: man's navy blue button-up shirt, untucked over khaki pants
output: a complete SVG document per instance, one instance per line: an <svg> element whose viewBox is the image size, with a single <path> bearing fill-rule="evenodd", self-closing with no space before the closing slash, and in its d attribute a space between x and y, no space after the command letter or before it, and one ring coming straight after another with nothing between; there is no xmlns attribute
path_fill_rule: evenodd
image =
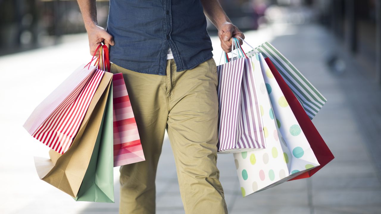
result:
<svg viewBox="0 0 381 214"><path fill-rule="evenodd" d="M200 0L110 0L107 32L110 61L140 73L165 75L169 48L177 71L213 57Z"/></svg>

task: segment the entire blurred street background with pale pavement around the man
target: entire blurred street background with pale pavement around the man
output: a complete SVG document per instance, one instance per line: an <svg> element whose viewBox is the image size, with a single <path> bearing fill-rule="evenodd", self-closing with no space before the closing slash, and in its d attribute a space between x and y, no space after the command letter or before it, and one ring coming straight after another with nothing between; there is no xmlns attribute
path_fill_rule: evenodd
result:
<svg viewBox="0 0 381 214"><path fill-rule="evenodd" d="M313 122L336 157L309 179L242 198L234 158L218 155L229 213L381 213L381 1L219 1L251 46L271 42L328 99ZM97 8L107 27L109 1ZM218 63L210 22L208 32ZM0 41L0 213L117 213L118 168L115 204L76 202L38 179L33 157L48 157L48 148L22 128L90 61L77 1L0 0ZM156 184L157 213L184 213L168 137Z"/></svg>

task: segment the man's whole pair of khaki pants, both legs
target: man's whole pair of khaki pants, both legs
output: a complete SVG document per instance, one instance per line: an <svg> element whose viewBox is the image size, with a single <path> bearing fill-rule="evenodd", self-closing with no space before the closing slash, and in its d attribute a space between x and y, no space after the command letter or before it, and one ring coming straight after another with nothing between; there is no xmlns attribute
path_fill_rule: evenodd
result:
<svg viewBox="0 0 381 214"><path fill-rule="evenodd" d="M165 129L176 163L186 213L227 213L217 161L218 97L216 64L210 59L176 72L167 60L166 76L123 73L146 161L120 167L120 213L155 213L155 177Z"/></svg>

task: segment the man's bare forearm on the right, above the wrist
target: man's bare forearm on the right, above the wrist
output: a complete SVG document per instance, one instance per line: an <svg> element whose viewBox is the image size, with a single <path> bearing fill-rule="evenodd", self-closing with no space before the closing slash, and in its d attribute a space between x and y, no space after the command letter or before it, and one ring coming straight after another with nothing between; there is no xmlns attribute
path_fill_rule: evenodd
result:
<svg viewBox="0 0 381 214"><path fill-rule="evenodd" d="M201 0L204 8L204 13L208 19L220 30L222 24L231 22L226 16L225 11L222 9L218 0Z"/></svg>

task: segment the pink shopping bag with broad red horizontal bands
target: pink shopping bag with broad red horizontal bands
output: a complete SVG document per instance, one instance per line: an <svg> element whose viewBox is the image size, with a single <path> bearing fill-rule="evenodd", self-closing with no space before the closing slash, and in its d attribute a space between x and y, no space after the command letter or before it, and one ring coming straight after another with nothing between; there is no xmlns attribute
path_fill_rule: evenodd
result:
<svg viewBox="0 0 381 214"><path fill-rule="evenodd" d="M112 79L114 101L114 167L146 160L122 73Z"/></svg>

